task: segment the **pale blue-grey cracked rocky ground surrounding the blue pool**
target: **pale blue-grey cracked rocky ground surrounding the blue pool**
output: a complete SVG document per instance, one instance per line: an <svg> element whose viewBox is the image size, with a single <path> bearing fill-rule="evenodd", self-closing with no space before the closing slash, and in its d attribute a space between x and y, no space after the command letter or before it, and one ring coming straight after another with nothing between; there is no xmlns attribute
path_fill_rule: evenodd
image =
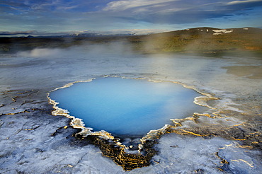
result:
<svg viewBox="0 0 262 174"><path fill-rule="evenodd" d="M261 171L261 81L227 74L222 68L261 64L261 60L161 58L1 58L12 64L0 69L1 173ZM74 136L79 129L70 127L69 118L51 114L49 91L105 74L180 81L220 100L210 101L212 108L205 113L173 120L162 132L148 135L137 154L115 146L115 141Z"/></svg>

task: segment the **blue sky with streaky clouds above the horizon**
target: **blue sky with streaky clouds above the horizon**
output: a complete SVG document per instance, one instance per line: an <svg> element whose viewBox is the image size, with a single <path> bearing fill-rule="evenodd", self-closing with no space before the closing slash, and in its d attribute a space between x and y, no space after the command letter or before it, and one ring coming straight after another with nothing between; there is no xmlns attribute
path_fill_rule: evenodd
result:
<svg viewBox="0 0 262 174"><path fill-rule="evenodd" d="M262 0L0 0L0 35L262 28Z"/></svg>

